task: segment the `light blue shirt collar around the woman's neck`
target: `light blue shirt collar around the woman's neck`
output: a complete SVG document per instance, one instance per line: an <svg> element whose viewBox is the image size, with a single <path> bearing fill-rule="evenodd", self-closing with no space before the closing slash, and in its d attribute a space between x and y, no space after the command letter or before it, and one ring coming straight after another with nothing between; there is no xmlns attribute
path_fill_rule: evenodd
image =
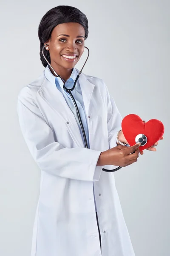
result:
<svg viewBox="0 0 170 256"><path fill-rule="evenodd" d="M51 73L51 70L50 70L50 66L47 65L47 67L45 68L45 77L46 79L48 79L48 81L50 81L51 83L58 83L60 85L60 87L63 89L63 81L57 77L57 76L54 76L52 73ZM77 77L77 70L76 68L74 67L73 70L72 70L72 73L71 73L71 76L66 80L68 81L69 83L65 83L65 87L67 87L68 89L69 88L72 88L73 87L73 84L74 84L74 81ZM76 86L77 86L77 83L76 83Z"/></svg>

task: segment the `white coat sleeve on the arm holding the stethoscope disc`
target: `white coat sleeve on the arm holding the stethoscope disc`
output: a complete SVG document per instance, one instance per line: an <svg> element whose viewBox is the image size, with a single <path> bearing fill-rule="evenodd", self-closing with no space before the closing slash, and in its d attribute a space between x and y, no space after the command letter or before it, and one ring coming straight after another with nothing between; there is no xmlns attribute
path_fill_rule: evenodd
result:
<svg viewBox="0 0 170 256"><path fill-rule="evenodd" d="M46 123L28 87L17 100L20 128L37 165L51 175L85 181L99 180L102 166L96 167L101 151L88 148L64 148L54 141L53 131Z"/></svg>

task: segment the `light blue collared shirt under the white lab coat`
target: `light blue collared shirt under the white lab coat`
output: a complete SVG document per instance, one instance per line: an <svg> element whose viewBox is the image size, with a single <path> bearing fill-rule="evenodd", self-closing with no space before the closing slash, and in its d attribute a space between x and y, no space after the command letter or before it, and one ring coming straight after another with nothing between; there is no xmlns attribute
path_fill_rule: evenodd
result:
<svg viewBox="0 0 170 256"><path fill-rule="evenodd" d="M74 67L73 71L71 73L71 76L65 82L65 87L67 89L70 89L70 88L73 87L74 81L75 81L77 75L78 75L77 70ZM80 122L79 122L79 118L78 118L78 115L77 115L77 111L76 111L74 102L71 99L70 94L67 93L64 90L64 88L63 88L63 85L64 85L63 81L59 77L54 76L51 73L49 65L47 65L47 67L45 68L45 77L51 83L55 82L57 89L64 96L65 101L67 102L69 108L71 109L71 111L73 112L73 114L74 114L74 116L76 118L77 124L79 126L79 130L80 130L80 133L81 133L81 136L82 136L82 141L83 141L84 146L85 146L84 137L83 137L83 134L82 134L82 129L81 129L81 126L80 126ZM77 103L77 107L79 109L79 113L80 113L80 116L81 116L81 119L82 119L82 124L83 124L84 129L85 129L85 135L86 135L86 138L87 138L88 148L90 148L90 145L89 145L89 134L88 134L88 122L87 122L87 116L86 116L86 112L85 112L85 105L84 105L83 98L82 98L82 91L81 91L81 88L80 88L80 85L79 85L79 80L77 80L76 86L75 86L74 90L71 91L71 93L72 93L72 95L73 95L73 97L74 97L74 99L75 99L75 101ZM93 183L93 189L94 189L94 183ZM94 204L95 204L95 209L96 209L95 196L94 196ZM96 209L96 211L97 211L97 209Z"/></svg>

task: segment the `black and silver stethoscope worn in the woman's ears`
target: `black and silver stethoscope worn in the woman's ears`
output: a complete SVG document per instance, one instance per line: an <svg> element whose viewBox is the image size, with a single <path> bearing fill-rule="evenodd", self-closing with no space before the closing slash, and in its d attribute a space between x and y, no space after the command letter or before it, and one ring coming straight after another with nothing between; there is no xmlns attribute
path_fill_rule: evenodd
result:
<svg viewBox="0 0 170 256"><path fill-rule="evenodd" d="M45 58L45 55L44 55L43 50L44 50L44 48L45 48L47 45L48 45L48 44L45 44L45 45L42 47L42 55L43 55L44 58ZM85 48L88 49L88 47L86 47L86 46L85 46ZM88 49L88 57L89 57L89 49ZM79 109L78 109L78 107L77 107L77 103L76 103L76 101L75 101L75 99L74 99L74 97L73 97L71 91L74 90L74 88L75 88L75 86L76 86L76 83L77 83L77 80L79 79L79 76L80 76L80 74L82 73L83 67L85 66L85 64L86 64L86 62L87 62L87 60L88 60L88 57L86 58L86 61L85 61L84 65L82 66L82 69L80 70L79 74L77 75L77 78L76 78L75 81L74 81L73 87L72 87L71 89L67 89L67 88L65 87L65 84L63 85L64 90L65 90L67 93L70 94L71 99L72 99L73 102L74 102L74 105L75 105L75 108L76 108L76 111L77 111L77 115L78 115L78 118L79 118L80 126L81 126L81 129L82 129L82 134L83 134L83 138L84 138L84 141L85 141L85 147L86 147L86 148L88 148L88 143L87 143L87 138L86 138L86 135L85 135L85 129L84 129L83 124L82 124L82 119L81 119L81 116L80 116L80 113L79 113ZM47 61L48 65L51 67L51 65L50 65L50 63L48 62L47 58L45 58L45 60ZM53 67L51 67L51 69L53 70L54 74L55 74L57 77L59 77L63 82L66 82L66 81L63 80L59 75L57 75L57 73L55 72L55 70L53 69ZM68 82L68 81L67 81L67 82ZM142 146L142 145L144 146L144 145L147 143L147 137L146 137L144 134L138 134L138 135L136 136L136 138L135 138L135 141L136 141L136 143L141 143L141 146ZM135 152L135 151L134 151L134 152ZM133 152L133 153L134 153L134 152ZM131 153L131 154L133 154L133 153ZM108 169L102 168L102 171L105 171L105 172L116 172L116 171L118 171L118 170L121 169L121 168L122 168L122 166L119 166L119 167L117 167L116 169L112 169L112 170L108 170Z"/></svg>

